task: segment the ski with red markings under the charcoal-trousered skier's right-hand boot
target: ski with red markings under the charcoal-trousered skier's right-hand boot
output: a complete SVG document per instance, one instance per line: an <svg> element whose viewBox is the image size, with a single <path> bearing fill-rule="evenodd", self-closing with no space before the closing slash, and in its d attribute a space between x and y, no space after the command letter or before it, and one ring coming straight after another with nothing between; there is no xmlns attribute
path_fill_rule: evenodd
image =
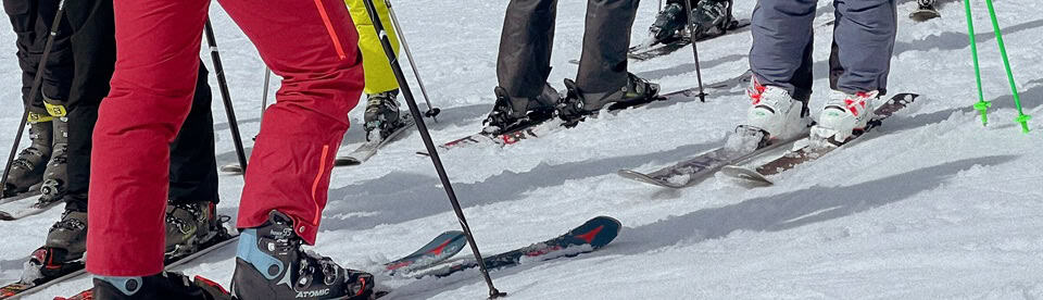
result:
<svg viewBox="0 0 1043 300"><path fill-rule="evenodd" d="M742 75L739 75L737 77L728 78L728 79L713 83L713 84L707 84L703 87L703 89L704 89L704 92L707 92L707 95L708 92L714 90L730 90L737 86L749 84L750 78L752 78L752 73L750 71L746 71ZM659 95L659 97L653 101L641 102L641 103L628 103L626 105L612 104L608 107L607 110L610 113L615 113L626 109L638 109L643 105L654 103L657 101L671 101L679 98L698 98L698 97L699 97L699 88L694 87L694 88L688 88L683 90ZM500 135L489 135L486 133L474 134L463 138L454 139L443 145L439 145L438 148L440 150L452 150L456 148L467 148L467 147L475 147L475 146L482 146L482 145L488 145L488 146L494 145L502 148L510 145L514 145L522 140L542 137L542 136L550 135L567 128L562 125L565 125L565 122L563 122L561 118L551 117L548 120L516 126L515 128L506 130L504 134L500 134ZM418 151L416 152L416 154L428 155L426 151Z"/></svg>

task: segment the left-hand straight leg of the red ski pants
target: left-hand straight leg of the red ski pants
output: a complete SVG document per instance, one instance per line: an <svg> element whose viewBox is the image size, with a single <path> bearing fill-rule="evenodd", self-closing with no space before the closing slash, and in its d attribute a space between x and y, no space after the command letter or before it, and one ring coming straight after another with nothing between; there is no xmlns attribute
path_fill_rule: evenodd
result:
<svg viewBox="0 0 1043 300"><path fill-rule="evenodd" d="M144 276L163 270L169 142L196 91L210 2L114 3L116 66L98 111L91 155L87 271Z"/></svg>

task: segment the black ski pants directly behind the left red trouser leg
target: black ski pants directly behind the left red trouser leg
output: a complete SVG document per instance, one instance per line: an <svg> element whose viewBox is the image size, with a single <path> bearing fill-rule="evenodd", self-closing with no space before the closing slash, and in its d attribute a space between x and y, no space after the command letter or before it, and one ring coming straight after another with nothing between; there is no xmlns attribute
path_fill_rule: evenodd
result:
<svg viewBox="0 0 1043 300"><path fill-rule="evenodd" d="M66 209L87 211L91 135L98 107L109 95L116 62L112 0L74 0L65 14L72 27L73 85L68 109L68 195ZM208 71L200 64L192 109L171 145L172 203L217 202L217 162ZM133 142L133 141L131 141Z"/></svg>

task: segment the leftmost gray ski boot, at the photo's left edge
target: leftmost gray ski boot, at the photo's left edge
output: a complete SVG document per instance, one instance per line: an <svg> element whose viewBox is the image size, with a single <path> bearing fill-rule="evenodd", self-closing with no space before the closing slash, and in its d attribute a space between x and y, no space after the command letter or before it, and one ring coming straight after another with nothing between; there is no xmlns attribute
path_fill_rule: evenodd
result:
<svg viewBox="0 0 1043 300"><path fill-rule="evenodd" d="M22 149L11 163L7 182L3 185L3 198L25 191L43 180L47 162L51 159L52 117L46 114L29 113L29 147Z"/></svg>

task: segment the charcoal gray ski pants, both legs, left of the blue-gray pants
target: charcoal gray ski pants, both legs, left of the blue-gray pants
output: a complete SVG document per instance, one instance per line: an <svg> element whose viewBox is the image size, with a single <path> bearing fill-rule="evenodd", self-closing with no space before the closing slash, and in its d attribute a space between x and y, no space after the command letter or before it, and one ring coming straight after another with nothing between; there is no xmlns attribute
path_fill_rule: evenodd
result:
<svg viewBox="0 0 1043 300"><path fill-rule="evenodd" d="M638 0L588 0L576 84L604 92L627 84L627 49ZM536 99L551 73L557 0L511 0L500 35L497 77L511 98Z"/></svg>

